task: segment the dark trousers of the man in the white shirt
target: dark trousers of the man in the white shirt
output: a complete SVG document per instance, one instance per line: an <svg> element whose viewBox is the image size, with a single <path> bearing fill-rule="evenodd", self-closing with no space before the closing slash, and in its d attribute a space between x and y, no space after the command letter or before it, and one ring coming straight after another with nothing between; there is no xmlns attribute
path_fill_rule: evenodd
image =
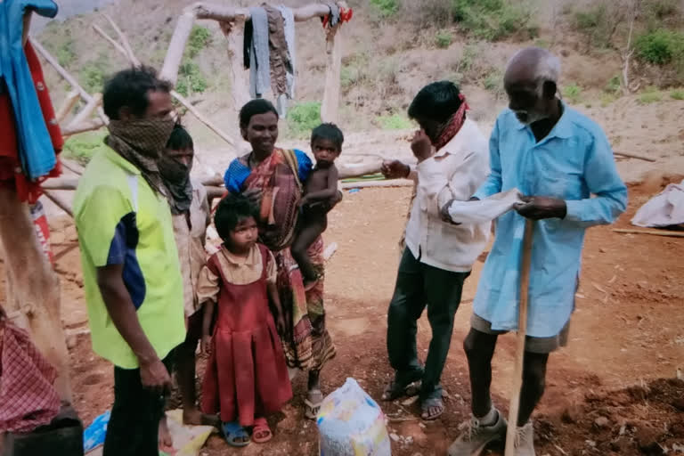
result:
<svg viewBox="0 0 684 456"><path fill-rule="evenodd" d="M422 379L421 400L442 395L439 379L452 343L453 317L468 275L424 265L409 248L403 251L395 295L387 312L387 353L397 382ZM418 361L416 332L426 305L432 340L423 370Z"/></svg>

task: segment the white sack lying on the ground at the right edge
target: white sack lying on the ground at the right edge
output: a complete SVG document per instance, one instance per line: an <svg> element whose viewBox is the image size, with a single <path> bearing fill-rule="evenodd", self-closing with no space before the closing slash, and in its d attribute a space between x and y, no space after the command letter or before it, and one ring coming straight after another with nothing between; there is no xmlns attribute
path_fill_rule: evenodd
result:
<svg viewBox="0 0 684 456"><path fill-rule="evenodd" d="M631 219L631 224L645 228L684 224L684 181L671 183L648 199Z"/></svg>

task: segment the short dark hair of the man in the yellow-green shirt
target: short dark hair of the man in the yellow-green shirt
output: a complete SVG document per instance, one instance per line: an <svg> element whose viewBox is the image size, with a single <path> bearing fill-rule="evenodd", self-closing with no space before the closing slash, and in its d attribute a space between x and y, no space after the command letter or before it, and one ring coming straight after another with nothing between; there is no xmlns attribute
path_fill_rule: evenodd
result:
<svg viewBox="0 0 684 456"><path fill-rule="evenodd" d="M171 92L171 84L157 77L151 67L139 67L119 71L105 83L102 91L102 107L108 118L118 120L118 110L127 106L136 117L142 117L150 106L147 93Z"/></svg>

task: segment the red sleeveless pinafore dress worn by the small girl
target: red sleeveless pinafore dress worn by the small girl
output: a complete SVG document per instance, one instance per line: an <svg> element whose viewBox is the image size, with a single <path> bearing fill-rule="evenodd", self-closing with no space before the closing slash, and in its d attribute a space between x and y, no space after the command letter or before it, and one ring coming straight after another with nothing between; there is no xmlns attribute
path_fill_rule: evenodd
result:
<svg viewBox="0 0 684 456"><path fill-rule="evenodd" d="M281 339L268 305L267 261L270 252L259 244L261 277L247 285L225 279L218 259L207 268L219 278L218 314L207 372L202 387L202 410L220 411L224 422L254 425L254 419L280 411L292 398Z"/></svg>

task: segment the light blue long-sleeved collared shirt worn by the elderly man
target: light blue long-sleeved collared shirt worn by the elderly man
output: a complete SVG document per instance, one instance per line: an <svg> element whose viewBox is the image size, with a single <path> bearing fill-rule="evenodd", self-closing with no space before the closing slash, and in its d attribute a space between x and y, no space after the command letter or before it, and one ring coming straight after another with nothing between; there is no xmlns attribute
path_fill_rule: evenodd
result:
<svg viewBox="0 0 684 456"><path fill-rule="evenodd" d="M585 230L611 224L627 206L627 188L601 127L563 106L563 115L541 142L513 111L496 120L490 139L491 174L479 199L517 188L525 195L565 199L564 219L535 222L527 335L557 335L574 310ZM593 198L592 198L593 195ZM520 262L525 218L501 216L480 279L473 310L493 330L517 330Z"/></svg>

